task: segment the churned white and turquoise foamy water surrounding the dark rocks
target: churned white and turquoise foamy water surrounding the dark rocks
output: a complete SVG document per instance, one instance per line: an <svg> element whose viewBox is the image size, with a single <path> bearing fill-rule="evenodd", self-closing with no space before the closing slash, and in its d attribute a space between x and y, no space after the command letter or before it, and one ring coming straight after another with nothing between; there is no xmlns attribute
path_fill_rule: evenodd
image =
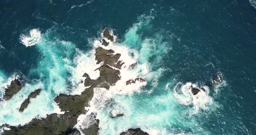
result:
<svg viewBox="0 0 256 135"><path fill-rule="evenodd" d="M102 47L121 54L119 60L125 63L118 69L121 80L109 90L95 88L90 106L85 108L88 113L79 116L75 125L77 129L93 125L95 121L89 114L96 113L96 118L100 120L100 135L116 135L137 127L150 135L187 135L191 132L210 135L211 132L204 129L200 122L208 113L222 107L215 98L228 84L224 78L220 86L210 88L203 85L206 91L193 95L190 86L199 87L201 82L184 82L176 79L175 75L163 79L166 72L174 70L164 66L167 61L163 60L172 50L172 42L166 37L167 32L152 31L153 20L154 16L151 15L138 16L136 22L126 30L123 40L115 35L118 29L111 29L111 34L115 35L114 42L105 39L110 42L108 46L101 45L103 33L99 29L99 37L89 41L92 48L89 51L77 48L73 42L58 39L55 28L46 32L36 28L21 34L20 42L26 48L36 48L40 55L37 67L30 69L28 75L0 71L1 97L13 79L23 77L27 80L15 96L0 103L0 125L25 125L35 117L42 119L51 113L63 114L53 99L61 93L81 94L86 88L80 83L85 80L85 73L93 80L98 79L99 71L95 69L102 63L96 64L94 54L95 48ZM149 34L143 35L144 32ZM136 62L135 68L131 69L129 65ZM137 77L145 78L146 82L125 85L126 80ZM42 89L42 92L20 113L18 109L21 103L36 89ZM110 115L120 113L124 116L110 118Z"/></svg>

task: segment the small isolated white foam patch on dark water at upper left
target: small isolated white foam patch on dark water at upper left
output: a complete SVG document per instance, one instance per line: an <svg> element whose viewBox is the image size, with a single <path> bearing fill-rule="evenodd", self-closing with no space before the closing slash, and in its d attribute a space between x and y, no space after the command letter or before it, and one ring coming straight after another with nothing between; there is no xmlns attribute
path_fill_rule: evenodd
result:
<svg viewBox="0 0 256 135"><path fill-rule="evenodd" d="M36 45L41 39L41 32L39 29L30 30L30 35L20 35L20 43L25 45L26 47Z"/></svg>

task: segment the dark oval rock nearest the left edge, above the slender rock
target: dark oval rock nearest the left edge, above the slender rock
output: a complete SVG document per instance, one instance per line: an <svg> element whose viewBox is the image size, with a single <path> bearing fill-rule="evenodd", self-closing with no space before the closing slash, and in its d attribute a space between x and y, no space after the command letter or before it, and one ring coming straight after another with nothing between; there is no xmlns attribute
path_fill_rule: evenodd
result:
<svg viewBox="0 0 256 135"><path fill-rule="evenodd" d="M23 83L19 79L12 80L11 84L7 86L7 89L5 89L3 99L10 100L13 95L21 90L22 87Z"/></svg>

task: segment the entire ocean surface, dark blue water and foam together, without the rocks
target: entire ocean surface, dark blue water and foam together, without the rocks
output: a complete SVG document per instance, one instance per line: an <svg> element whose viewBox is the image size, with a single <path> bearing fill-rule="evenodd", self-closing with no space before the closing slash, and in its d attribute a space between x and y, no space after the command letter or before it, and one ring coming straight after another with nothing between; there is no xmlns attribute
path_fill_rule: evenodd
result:
<svg viewBox="0 0 256 135"><path fill-rule="evenodd" d="M80 94L84 73L99 76L94 52L105 27L115 42L104 48L121 53L126 67L115 86L95 90L90 102L100 135L136 127L150 135L256 134L255 0L1 0L0 96L16 77L26 84L0 103L0 125L63 113L54 97ZM223 82L207 87L216 72ZM147 83L124 85L135 77ZM192 95L189 86L200 84L206 92ZM93 122L81 115L76 127Z"/></svg>

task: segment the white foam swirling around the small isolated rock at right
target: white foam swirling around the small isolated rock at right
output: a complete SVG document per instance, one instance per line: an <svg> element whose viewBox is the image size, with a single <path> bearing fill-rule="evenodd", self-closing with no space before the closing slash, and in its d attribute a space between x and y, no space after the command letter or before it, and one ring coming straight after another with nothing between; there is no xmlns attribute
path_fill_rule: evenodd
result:
<svg viewBox="0 0 256 135"><path fill-rule="evenodd" d="M198 113L200 109L208 110L208 106L213 104L213 98L208 95L209 87L203 86L203 88L206 90L205 92L203 90L200 90L199 93L193 95L191 91L191 86L198 88L196 84L188 82L179 87L180 85L181 83L178 83L174 87L174 96L177 98L179 103L185 106L189 106L192 104L194 108L194 114Z"/></svg>

